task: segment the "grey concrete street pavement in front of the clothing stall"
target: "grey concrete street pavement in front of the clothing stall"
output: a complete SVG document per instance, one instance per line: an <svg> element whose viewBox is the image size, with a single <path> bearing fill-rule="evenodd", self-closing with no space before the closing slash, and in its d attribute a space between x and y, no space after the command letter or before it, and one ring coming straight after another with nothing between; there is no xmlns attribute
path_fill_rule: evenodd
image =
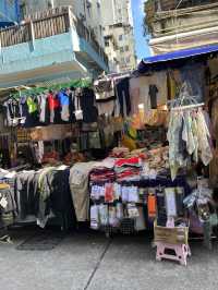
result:
<svg viewBox="0 0 218 290"><path fill-rule="evenodd" d="M156 262L147 233L116 235L76 232L51 251L17 251L33 232L10 231L0 244L0 290L216 290L218 244L191 244L187 267Z"/></svg>

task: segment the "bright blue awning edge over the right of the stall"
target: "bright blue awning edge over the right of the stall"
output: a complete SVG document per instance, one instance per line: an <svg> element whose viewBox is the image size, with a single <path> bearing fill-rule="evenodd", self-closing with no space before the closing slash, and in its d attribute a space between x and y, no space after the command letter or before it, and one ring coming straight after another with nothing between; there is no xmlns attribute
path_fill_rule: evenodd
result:
<svg viewBox="0 0 218 290"><path fill-rule="evenodd" d="M155 64L158 62L166 62L171 60L185 59L191 57L197 57L218 51L218 45L203 46L191 49L182 49L165 55L159 55L150 58L143 59L145 64Z"/></svg>

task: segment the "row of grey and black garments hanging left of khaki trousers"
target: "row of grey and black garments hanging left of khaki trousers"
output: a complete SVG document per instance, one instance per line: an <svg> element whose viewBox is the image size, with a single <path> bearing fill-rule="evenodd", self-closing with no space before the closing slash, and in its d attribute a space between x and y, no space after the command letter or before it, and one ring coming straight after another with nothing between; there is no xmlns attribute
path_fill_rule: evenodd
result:
<svg viewBox="0 0 218 290"><path fill-rule="evenodd" d="M61 220L69 213L73 220L69 176L70 169L63 166L1 172L1 181L9 184L0 183L0 227L25 222L31 217L45 228L50 217Z"/></svg>

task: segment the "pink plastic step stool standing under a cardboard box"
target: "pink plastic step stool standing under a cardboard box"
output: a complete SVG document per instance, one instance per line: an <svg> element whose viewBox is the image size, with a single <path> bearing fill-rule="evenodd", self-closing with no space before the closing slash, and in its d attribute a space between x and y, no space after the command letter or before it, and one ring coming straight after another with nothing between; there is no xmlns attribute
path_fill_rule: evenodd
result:
<svg viewBox="0 0 218 290"><path fill-rule="evenodd" d="M156 242L157 254L156 259L161 261L162 258L177 261L181 265L187 265L187 256L191 256L191 250L187 244L169 244L164 242ZM167 254L166 251L173 251L174 254Z"/></svg>

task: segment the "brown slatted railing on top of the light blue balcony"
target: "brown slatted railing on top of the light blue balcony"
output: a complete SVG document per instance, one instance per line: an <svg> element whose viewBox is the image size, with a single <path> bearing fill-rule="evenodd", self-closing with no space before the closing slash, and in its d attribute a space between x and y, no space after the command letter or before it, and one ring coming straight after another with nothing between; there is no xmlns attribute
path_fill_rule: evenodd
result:
<svg viewBox="0 0 218 290"><path fill-rule="evenodd" d="M10 47L68 33L71 25L74 25L78 36L89 43L93 49L108 64L108 57L95 39L95 34L82 21L72 15L72 11L69 8L57 8L35 13L26 17L24 24L0 29L0 47Z"/></svg>

